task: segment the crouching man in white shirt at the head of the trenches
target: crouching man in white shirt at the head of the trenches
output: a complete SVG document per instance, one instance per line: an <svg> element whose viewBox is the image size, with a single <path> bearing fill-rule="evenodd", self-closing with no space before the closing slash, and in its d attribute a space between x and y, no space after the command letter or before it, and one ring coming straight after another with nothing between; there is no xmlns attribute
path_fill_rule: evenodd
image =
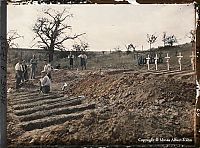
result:
<svg viewBox="0 0 200 148"><path fill-rule="evenodd" d="M51 89L51 80L47 76L45 71L41 72L41 79L40 79L40 91L43 93L49 93Z"/></svg>

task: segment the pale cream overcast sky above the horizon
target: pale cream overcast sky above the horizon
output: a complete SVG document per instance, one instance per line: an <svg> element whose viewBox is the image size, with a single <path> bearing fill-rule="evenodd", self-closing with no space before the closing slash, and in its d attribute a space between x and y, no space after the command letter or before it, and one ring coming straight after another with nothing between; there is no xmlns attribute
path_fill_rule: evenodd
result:
<svg viewBox="0 0 200 148"><path fill-rule="evenodd" d="M194 7L190 5L8 5L7 30L16 30L24 38L15 42L18 47L30 48L34 33L32 27L44 8L69 9L73 17L66 23L72 26L72 34L86 33L80 39L88 42L91 51L126 50L130 43L136 50L149 49L147 34L158 36L152 47L163 46L163 32L175 35L178 44L190 42L187 37L194 29ZM65 42L71 49L79 40ZM37 48L34 46L32 48Z"/></svg>

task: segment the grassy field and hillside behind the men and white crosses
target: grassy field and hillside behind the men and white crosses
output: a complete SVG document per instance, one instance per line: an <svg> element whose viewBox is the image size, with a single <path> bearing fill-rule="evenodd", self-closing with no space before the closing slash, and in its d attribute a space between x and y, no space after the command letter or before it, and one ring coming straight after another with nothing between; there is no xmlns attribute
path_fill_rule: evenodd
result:
<svg viewBox="0 0 200 148"><path fill-rule="evenodd" d="M178 66L178 58L176 57L179 52L182 53L183 59L182 63L184 65L189 65L190 62L190 55L192 54L192 45L191 44L184 44L179 46L173 46L173 47L160 47L152 49L152 52L155 54L158 54L158 57L162 57L165 64L166 60L164 57L166 57L166 54L168 53L170 58L170 65L172 69L176 69ZM27 64L29 64L29 61L32 57L32 55L35 54L39 61L39 70L41 70L41 67L43 66L44 59L48 59L48 54L43 50L20 50L20 49L12 49L8 52L8 64L9 67L14 67L14 65L17 63L18 58L24 59ZM73 53L74 55L79 55L80 53ZM126 51L112 51L112 52L92 52L87 51L86 55L88 56L87 60L87 68L91 70L98 70L98 69L143 69L144 66L138 66L138 58L143 55L144 57L147 57L149 54L149 51L135 51L135 52L129 52ZM52 62L52 65L55 67L56 65L60 64L61 68L69 69L69 59L68 59L69 51L66 52L55 52L54 54L54 61ZM163 65L160 64L160 65ZM187 66L184 66L184 68L188 69ZM153 64L151 64L151 67L153 69ZM163 69L164 66L159 66L160 69ZM162 68L161 68L162 67ZM80 59L74 58L74 69L80 69Z"/></svg>

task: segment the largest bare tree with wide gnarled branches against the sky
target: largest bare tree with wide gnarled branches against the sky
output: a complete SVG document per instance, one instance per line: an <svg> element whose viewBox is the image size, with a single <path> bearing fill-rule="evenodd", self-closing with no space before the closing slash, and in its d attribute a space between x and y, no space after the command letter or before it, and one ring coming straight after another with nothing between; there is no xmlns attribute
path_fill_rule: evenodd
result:
<svg viewBox="0 0 200 148"><path fill-rule="evenodd" d="M66 20L73 15L66 9L56 11L53 9L43 10L44 17L39 17L33 27L40 48L48 51L49 62L53 61L53 53L55 49L64 50L63 43L67 40L74 40L85 34L70 35L72 26L65 24Z"/></svg>

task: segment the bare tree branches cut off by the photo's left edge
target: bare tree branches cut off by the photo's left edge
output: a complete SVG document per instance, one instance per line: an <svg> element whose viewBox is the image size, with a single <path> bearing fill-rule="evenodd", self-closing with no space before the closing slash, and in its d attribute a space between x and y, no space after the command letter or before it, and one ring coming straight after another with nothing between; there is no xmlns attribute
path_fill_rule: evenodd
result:
<svg viewBox="0 0 200 148"><path fill-rule="evenodd" d="M16 39L19 39L19 38L23 38L23 36L19 35L19 34L17 33L16 30L10 30L10 31L7 33L8 48L17 47L18 44L15 43L14 41L15 41Z"/></svg>

